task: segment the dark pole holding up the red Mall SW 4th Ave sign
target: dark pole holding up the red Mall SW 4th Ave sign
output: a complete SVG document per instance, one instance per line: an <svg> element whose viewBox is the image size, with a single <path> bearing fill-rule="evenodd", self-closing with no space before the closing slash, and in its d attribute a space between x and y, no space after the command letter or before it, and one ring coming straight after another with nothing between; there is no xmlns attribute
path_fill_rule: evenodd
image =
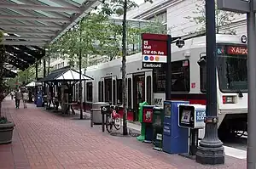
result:
<svg viewBox="0 0 256 169"><path fill-rule="evenodd" d="M167 38L166 100L172 99L172 37Z"/></svg>

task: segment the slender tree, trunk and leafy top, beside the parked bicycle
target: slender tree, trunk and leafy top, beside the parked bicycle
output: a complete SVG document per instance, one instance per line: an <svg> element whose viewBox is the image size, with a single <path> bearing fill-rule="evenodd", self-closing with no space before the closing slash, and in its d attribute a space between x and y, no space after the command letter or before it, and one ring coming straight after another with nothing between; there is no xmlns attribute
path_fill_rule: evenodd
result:
<svg viewBox="0 0 256 169"><path fill-rule="evenodd" d="M151 2L152 0L145 0L145 2ZM104 3L102 7L102 11L105 14L111 15L111 14L123 14L123 24L122 24L122 93L123 93L123 107L124 107L124 115L123 115L123 135L127 135L127 85L125 82L125 76L126 76L126 14L127 9L129 8L135 8L137 7L137 4L134 3L131 0L109 0L108 3Z"/></svg>

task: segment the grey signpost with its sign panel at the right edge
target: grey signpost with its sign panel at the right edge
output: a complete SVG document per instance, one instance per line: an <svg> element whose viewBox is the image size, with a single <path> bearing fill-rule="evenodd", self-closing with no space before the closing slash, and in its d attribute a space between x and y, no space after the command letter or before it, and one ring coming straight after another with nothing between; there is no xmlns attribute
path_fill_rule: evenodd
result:
<svg viewBox="0 0 256 169"><path fill-rule="evenodd" d="M248 53L248 135L247 135L247 169L256 166L256 0L218 0L218 8L236 13L247 14L247 53Z"/></svg>

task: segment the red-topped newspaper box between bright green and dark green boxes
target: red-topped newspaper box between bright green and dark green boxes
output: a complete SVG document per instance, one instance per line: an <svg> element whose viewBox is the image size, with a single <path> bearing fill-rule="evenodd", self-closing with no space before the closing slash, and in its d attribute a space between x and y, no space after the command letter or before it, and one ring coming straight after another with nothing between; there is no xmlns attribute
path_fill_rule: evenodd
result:
<svg viewBox="0 0 256 169"><path fill-rule="evenodd" d="M151 144L153 141L153 108L154 105L143 105L143 123L145 123L144 143Z"/></svg>

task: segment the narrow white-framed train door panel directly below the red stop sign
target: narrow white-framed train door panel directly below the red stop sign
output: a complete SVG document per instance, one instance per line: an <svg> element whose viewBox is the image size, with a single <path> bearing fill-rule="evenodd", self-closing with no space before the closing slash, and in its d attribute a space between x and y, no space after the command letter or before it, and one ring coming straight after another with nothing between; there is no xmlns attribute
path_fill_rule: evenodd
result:
<svg viewBox="0 0 256 169"><path fill-rule="evenodd" d="M145 101L148 102L149 105L153 103L153 72L147 71L145 72Z"/></svg>

